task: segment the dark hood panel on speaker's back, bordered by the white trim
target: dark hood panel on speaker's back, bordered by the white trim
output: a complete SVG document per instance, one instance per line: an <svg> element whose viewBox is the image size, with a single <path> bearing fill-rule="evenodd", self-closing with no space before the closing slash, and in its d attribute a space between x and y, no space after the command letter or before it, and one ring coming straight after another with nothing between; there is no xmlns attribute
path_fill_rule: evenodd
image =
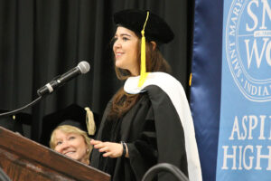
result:
<svg viewBox="0 0 271 181"><path fill-rule="evenodd" d="M168 163L180 168L188 176L187 153L185 149L182 121L169 96L160 87L145 88L154 110L158 163ZM158 180L176 180L172 174L159 174Z"/></svg>

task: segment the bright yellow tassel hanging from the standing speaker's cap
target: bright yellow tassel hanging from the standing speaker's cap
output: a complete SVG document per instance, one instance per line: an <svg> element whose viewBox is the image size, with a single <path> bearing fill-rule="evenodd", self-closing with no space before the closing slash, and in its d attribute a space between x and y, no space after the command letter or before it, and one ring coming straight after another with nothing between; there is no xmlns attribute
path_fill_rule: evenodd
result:
<svg viewBox="0 0 271 181"><path fill-rule="evenodd" d="M147 12L146 18L145 18L145 24L147 23L149 18L149 12ZM145 24L143 26L143 30L141 31L142 38L141 38L141 69L140 69L140 79L138 82L138 87L141 87L144 82L145 78L147 76L147 72L145 72Z"/></svg>

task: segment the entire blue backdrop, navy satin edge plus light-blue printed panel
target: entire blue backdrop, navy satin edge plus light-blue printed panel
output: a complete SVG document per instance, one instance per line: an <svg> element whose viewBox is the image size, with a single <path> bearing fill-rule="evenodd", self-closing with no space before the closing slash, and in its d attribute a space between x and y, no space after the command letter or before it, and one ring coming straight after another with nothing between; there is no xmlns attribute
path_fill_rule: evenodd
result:
<svg viewBox="0 0 271 181"><path fill-rule="evenodd" d="M196 0L191 107L204 181L271 179L271 1Z"/></svg>

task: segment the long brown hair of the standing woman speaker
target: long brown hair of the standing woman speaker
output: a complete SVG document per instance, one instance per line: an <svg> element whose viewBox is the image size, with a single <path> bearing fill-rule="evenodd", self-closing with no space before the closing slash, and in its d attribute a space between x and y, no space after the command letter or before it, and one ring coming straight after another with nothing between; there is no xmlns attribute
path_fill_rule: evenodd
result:
<svg viewBox="0 0 271 181"><path fill-rule="evenodd" d="M139 37L139 36L138 36ZM157 45L154 47L153 43L146 41L145 43L145 54L146 54L146 71L154 72L154 71L163 71L170 72L171 68L168 62L164 60L164 57ZM137 46L137 66L140 68L141 62L141 41L138 41ZM130 71L119 69L115 66L115 71L117 74L117 78L119 80L126 80L131 76ZM121 118L128 110L130 110L139 100L140 94L128 94L125 92L124 88L120 88L112 101L112 108L109 113L110 119L118 119Z"/></svg>

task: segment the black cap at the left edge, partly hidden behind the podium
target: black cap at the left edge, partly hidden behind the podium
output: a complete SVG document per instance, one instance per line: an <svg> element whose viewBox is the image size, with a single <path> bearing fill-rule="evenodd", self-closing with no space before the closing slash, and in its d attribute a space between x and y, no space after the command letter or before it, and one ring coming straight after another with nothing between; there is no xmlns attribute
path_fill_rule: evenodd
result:
<svg viewBox="0 0 271 181"><path fill-rule="evenodd" d="M7 110L0 110L0 113L6 111ZM12 116L0 117L0 126L18 132L24 137L31 138L32 121L33 116L31 114L19 112Z"/></svg>

